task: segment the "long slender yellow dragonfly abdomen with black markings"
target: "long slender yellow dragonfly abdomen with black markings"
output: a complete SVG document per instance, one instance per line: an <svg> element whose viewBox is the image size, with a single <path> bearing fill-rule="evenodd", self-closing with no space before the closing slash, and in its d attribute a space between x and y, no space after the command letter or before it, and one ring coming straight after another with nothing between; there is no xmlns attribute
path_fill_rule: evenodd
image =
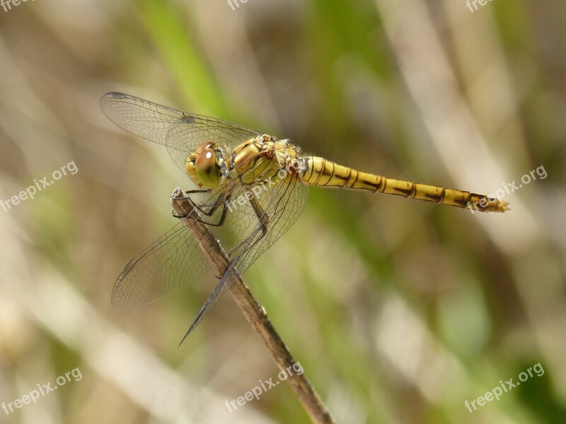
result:
<svg viewBox="0 0 566 424"><path fill-rule="evenodd" d="M507 210L506 201L493 199L484 194L359 172L316 156L306 158L306 164L306 171L301 174L301 180L309 185L393 194L481 212Z"/></svg>

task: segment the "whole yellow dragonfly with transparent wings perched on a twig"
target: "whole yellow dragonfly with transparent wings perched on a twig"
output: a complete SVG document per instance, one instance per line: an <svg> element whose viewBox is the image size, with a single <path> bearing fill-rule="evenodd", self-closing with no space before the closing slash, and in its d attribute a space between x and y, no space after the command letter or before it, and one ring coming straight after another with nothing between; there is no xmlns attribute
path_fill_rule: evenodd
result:
<svg viewBox="0 0 566 424"><path fill-rule="evenodd" d="M305 155L289 139L124 93L105 94L100 107L120 128L166 146L195 184L197 189L185 192L195 213L178 218L211 230L233 228L229 266L183 340L236 278L291 228L304 209L308 186L393 194L481 212L508 209L506 201L491 196L360 172ZM122 269L112 288L113 307L149 305L209 271L212 265L183 220Z"/></svg>

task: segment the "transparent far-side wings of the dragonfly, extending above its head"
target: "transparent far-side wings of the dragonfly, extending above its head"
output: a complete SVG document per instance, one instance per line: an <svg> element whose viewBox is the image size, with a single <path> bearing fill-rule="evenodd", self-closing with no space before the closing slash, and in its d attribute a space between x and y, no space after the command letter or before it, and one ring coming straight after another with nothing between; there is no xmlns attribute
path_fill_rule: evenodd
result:
<svg viewBox="0 0 566 424"><path fill-rule="evenodd" d="M167 146L173 162L185 172L187 155L208 141L231 151L259 131L222 119L181 112L123 93L108 93L100 108L120 128L146 140Z"/></svg>

